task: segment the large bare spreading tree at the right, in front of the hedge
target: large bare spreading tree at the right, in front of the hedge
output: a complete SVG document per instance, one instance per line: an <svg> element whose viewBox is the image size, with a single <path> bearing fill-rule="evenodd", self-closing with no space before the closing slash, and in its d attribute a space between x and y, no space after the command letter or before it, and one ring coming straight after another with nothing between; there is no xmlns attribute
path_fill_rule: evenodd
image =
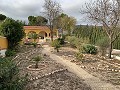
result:
<svg viewBox="0 0 120 90"><path fill-rule="evenodd" d="M120 10L116 0L97 0L86 3L81 10L90 20L103 26L109 38L109 58L111 58L114 41L119 37L118 23Z"/></svg>

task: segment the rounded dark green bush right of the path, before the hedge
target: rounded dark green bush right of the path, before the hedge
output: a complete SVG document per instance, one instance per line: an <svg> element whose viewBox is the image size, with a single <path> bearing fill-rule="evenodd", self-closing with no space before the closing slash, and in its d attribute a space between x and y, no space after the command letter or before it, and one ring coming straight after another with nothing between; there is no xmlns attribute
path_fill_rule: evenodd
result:
<svg viewBox="0 0 120 90"><path fill-rule="evenodd" d="M82 49L83 53L87 53L87 54L97 54L97 48L93 45L90 44L85 44L83 45L83 49Z"/></svg>

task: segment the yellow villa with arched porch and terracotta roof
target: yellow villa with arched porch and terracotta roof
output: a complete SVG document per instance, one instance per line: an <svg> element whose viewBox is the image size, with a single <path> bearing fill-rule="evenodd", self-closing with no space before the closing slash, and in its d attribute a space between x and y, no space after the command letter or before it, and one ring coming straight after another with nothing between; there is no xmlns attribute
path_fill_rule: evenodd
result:
<svg viewBox="0 0 120 90"><path fill-rule="evenodd" d="M50 29L47 26L24 26L26 39L29 39L30 33L36 33L39 36L39 42L51 39ZM58 38L58 30L53 31L53 38Z"/></svg>

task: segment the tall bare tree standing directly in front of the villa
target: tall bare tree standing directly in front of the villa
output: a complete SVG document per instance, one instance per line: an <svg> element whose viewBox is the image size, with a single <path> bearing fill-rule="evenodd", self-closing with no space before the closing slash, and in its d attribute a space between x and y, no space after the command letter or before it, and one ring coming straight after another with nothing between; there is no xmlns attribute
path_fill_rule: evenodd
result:
<svg viewBox="0 0 120 90"><path fill-rule="evenodd" d="M43 7L45 9L45 16L48 19L48 26L51 31L51 40L53 41L53 30L55 29L56 25L56 18L62 11L61 6L58 2L52 0L45 0Z"/></svg>

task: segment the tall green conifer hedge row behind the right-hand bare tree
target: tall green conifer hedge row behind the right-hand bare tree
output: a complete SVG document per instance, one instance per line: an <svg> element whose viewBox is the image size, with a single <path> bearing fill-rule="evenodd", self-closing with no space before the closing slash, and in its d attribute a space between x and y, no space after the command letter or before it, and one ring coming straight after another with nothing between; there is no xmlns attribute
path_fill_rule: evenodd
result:
<svg viewBox="0 0 120 90"><path fill-rule="evenodd" d="M96 45L100 39L107 37L101 26L78 25L73 33L78 38L89 38L89 43L94 45ZM120 49L120 37L113 43L113 48Z"/></svg>

